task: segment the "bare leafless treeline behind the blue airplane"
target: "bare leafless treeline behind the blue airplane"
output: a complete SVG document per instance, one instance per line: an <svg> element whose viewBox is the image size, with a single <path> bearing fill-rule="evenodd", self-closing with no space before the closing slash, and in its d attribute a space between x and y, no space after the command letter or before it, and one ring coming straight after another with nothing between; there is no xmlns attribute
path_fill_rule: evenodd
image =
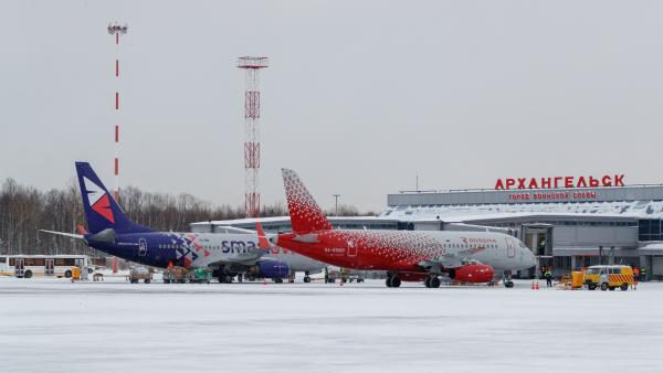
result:
<svg viewBox="0 0 663 373"><path fill-rule="evenodd" d="M120 190L119 201L133 221L160 231L188 232L189 224L208 220L244 217L243 207L213 205L191 194L144 192L136 186ZM334 214L334 211L328 213ZM359 215L354 206L339 205L338 215ZM372 213L369 213L372 214ZM264 205L261 216L287 215L287 206L277 202ZM72 179L63 189L40 191L7 179L0 189L1 254L88 254L95 255L81 239L38 233L39 230L76 232L85 222L78 184Z"/></svg>

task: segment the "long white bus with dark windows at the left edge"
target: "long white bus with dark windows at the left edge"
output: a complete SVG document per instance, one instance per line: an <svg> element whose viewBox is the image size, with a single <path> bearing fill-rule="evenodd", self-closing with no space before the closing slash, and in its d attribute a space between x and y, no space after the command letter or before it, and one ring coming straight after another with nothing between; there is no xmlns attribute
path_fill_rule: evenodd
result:
<svg viewBox="0 0 663 373"><path fill-rule="evenodd" d="M31 278L72 277L72 267L87 267L86 255L0 255L0 275Z"/></svg>

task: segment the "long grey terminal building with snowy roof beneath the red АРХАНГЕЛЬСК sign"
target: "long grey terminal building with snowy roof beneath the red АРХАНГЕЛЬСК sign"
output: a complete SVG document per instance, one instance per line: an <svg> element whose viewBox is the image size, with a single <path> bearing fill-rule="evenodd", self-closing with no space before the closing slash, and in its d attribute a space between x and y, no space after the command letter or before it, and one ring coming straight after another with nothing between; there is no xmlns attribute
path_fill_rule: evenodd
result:
<svg viewBox="0 0 663 373"><path fill-rule="evenodd" d="M523 239L556 275L603 263L638 266L650 278L663 279L663 185L498 186L388 194L379 216L329 221L350 230L503 231ZM291 228L287 216L261 222L267 232ZM191 224L193 232L222 232L224 226L254 228L255 220Z"/></svg>

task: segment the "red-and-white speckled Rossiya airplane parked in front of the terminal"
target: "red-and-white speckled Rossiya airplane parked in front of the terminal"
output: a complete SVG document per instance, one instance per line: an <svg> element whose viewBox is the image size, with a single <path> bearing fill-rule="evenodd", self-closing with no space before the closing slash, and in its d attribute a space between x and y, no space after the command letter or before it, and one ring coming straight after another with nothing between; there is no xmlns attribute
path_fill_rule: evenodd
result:
<svg viewBox="0 0 663 373"><path fill-rule="evenodd" d="M282 172L293 231L270 241L330 265L387 270L388 287L423 280L436 288L442 274L459 281L490 283L496 270L536 265L529 248L503 233L334 230L299 177L292 170Z"/></svg>

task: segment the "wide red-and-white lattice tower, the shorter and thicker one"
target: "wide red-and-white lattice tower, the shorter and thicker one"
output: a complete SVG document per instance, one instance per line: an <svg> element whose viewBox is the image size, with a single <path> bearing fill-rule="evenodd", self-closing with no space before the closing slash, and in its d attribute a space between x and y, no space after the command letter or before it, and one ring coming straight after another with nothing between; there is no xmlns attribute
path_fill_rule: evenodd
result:
<svg viewBox="0 0 663 373"><path fill-rule="evenodd" d="M238 67L246 72L244 92L244 209L248 217L260 213L260 70L269 66L267 57L239 57Z"/></svg>

